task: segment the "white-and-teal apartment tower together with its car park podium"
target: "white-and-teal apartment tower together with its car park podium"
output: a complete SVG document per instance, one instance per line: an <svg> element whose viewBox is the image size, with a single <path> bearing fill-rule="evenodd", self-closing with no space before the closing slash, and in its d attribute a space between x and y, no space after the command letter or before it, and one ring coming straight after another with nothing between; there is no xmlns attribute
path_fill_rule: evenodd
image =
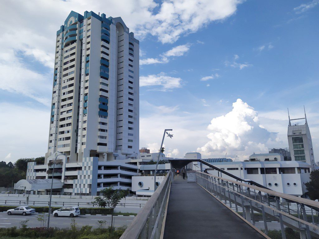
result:
<svg viewBox="0 0 319 239"><path fill-rule="evenodd" d="M58 192L131 188L138 153L139 41L120 17L71 11L56 33L45 164L29 163L26 179L53 177ZM39 182L30 191L47 189Z"/></svg>

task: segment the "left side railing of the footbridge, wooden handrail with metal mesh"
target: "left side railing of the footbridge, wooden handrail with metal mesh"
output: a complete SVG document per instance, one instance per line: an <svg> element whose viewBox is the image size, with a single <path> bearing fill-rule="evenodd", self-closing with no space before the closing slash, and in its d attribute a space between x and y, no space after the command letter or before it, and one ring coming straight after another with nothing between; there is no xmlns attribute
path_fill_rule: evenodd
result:
<svg viewBox="0 0 319 239"><path fill-rule="evenodd" d="M160 237L170 185L171 172L168 172L120 239L158 239Z"/></svg>

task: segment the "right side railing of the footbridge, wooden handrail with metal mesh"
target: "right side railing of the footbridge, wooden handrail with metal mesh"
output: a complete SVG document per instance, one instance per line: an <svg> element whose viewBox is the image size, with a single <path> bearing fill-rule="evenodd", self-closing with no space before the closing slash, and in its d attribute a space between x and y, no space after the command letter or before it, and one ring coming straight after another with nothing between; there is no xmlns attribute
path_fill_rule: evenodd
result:
<svg viewBox="0 0 319 239"><path fill-rule="evenodd" d="M271 239L319 238L319 202L201 172L196 181Z"/></svg>

